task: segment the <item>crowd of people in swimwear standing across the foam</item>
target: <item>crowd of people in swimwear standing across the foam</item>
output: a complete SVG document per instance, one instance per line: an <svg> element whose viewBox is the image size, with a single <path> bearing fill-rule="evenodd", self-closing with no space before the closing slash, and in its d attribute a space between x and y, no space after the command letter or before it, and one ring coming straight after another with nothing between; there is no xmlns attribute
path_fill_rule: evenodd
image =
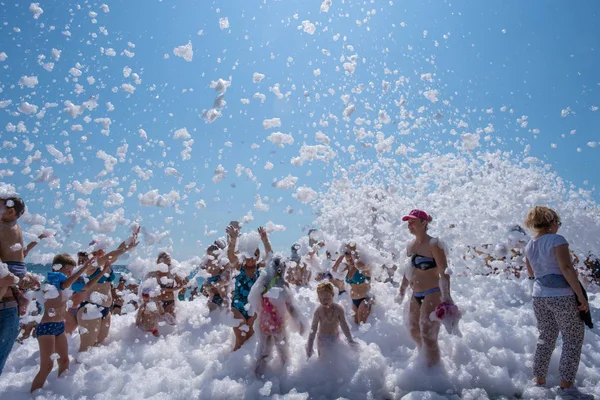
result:
<svg viewBox="0 0 600 400"><path fill-rule="evenodd" d="M233 351L256 333L255 372L259 376L274 348L283 363L288 360L287 331L291 326L300 335L308 334L308 357L314 352L315 339L318 356L328 357L328 349L339 342L340 330L348 343L356 346L347 319L360 325L371 318L371 310L377 305L371 288L373 280L396 286L399 302L409 289L412 291L407 327L429 366L438 365L441 360L441 323L460 316L451 296L447 250L438 238L430 236L432 218L423 210L412 210L402 218L413 236L406 247L407 266L403 271L396 262L400 256L393 255L394 262L376 266L374 259L361 250L360 243L348 241L332 249L314 230L309 232L303 254L302 246L295 243L291 255L284 257L273 252L266 229L260 227L258 232L242 234L240 224L232 221L226 236L206 249L191 275L178 273L170 254L160 252L156 264L140 282L128 282L124 276L117 280L113 271L119 257L138 245L139 226L115 250L107 251L92 242L96 245L93 251L79 252L77 260L69 254L57 254L44 282L35 279L25 264L25 256L35 242L24 246L18 224L24 211L25 204L18 197L0 200L0 375L17 339L19 319L24 317L20 340L34 331L40 348L40 369L32 392L44 386L55 359L59 375L69 368L66 335L78 332L80 352L101 345L110 331L112 315L129 307L136 313L136 326L158 336L161 323L177 323L177 301L194 300L199 294L205 297L210 310L231 312L237 321L233 327ZM511 261L508 270L520 276L525 269L534 280L533 308L539 329L533 364L535 384L546 384L550 357L560 333L563 351L559 390L565 398L591 398L573 386L584 323L592 323L587 295L573 267L568 242L557 234L560 217L550 208L536 206L528 213L525 225L533 237L522 241L521 246L505 249L500 255L473 248L470 256L483 258L490 269L495 260L506 262L524 256L524 266L515 266ZM203 281L199 287L197 277ZM312 285L316 285L320 304L310 326L305 326L294 300L294 286ZM346 293L350 312L340 304L346 301ZM29 307L32 299L37 305ZM28 309L42 314L39 322L30 316L27 319ZM58 358L53 356L55 353Z"/></svg>

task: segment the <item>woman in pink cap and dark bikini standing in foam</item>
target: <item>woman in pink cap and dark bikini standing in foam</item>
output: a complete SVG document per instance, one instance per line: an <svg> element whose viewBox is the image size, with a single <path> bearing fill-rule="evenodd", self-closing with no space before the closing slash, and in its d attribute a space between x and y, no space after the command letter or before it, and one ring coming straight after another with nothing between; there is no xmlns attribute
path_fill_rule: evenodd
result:
<svg viewBox="0 0 600 400"><path fill-rule="evenodd" d="M415 238L406 247L410 267L404 272L400 301L410 285L413 291L409 305L410 335L419 350L425 351L428 365L434 366L440 362L440 323L431 321L429 315L441 303L454 303L450 297L450 276L446 273L446 253L439 240L427 233L432 218L425 211L412 210L402 221L408 223L408 230Z"/></svg>

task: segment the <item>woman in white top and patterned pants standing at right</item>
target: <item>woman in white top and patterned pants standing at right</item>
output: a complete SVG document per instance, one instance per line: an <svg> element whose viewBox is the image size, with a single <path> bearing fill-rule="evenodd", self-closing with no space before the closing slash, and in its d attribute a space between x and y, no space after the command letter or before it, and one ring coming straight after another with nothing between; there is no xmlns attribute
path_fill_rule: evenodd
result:
<svg viewBox="0 0 600 400"><path fill-rule="evenodd" d="M573 387L584 335L580 311L588 311L589 306L571 264L569 244L556 234L562 225L560 217L548 207L536 206L527 214L525 224L535 232L525 247L525 255L527 271L535 277L533 311L539 330L533 359L536 384L546 384L550 358L560 332L563 349L559 395L564 399L593 399Z"/></svg>

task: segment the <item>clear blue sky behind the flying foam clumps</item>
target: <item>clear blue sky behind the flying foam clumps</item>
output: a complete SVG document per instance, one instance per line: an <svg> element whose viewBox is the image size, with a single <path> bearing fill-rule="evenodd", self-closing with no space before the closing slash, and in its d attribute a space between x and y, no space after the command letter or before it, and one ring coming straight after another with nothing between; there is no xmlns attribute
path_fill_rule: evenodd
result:
<svg viewBox="0 0 600 400"><path fill-rule="evenodd" d="M101 4L42 1L39 6L44 12L34 19L29 3L0 3L0 53L7 55L0 61L0 102L12 101L0 109L0 141L4 144L0 158L7 161L0 164L0 170L5 170L1 181L13 184L27 200L29 211L48 219L49 228L64 229L68 223L64 214L74 209L77 199L89 199L87 209L99 220L105 218L102 213L115 213L122 207L127 218L140 220L150 230L170 231L175 257L186 258L200 252L198 243L205 246L216 238L206 236L205 230L223 232L230 220L252 211L254 220L248 228L267 221L286 226L285 232L273 233L272 239L277 247L287 249L311 226L313 210L292 197L294 189L277 189L272 182L291 174L298 177L296 187L306 185L321 191L332 179L335 165L352 162L345 151L350 145L357 148L356 158L376 160L369 145L377 140L357 140L353 129L360 127L394 136L393 150L405 144L419 152L443 153L457 151L454 143L460 142L462 133L492 124L493 139L487 142L482 134L476 151L490 146L512 151L515 162L534 156L577 186L592 189L600 185L600 150L588 145L600 142L600 111L593 111L600 107L597 2L567 6L547 1L542 6L519 1L333 0L328 12L320 12L319 2L107 1L108 13ZM90 12L97 15L90 16ZM229 28L221 29L219 19L224 17ZM315 25L314 34L298 29L303 21ZM191 62L173 53L188 41L193 46ZM53 48L62 51L58 61L52 58ZM115 56L106 55L109 48ZM130 58L124 50L135 54ZM40 60L40 55L46 58ZM344 63L354 55L355 70L347 74ZM55 64L52 72L40 65L48 62ZM132 75L125 77L125 67L137 73L141 82L135 83ZM79 72L72 68L81 71L81 76L75 77L73 73ZM386 74L386 68L391 73ZM264 74L264 80L254 83L254 72ZM431 81L421 79L427 73L432 74ZM35 76L38 83L22 87L19 81L23 76ZM406 83L395 86L401 76ZM93 83L89 77L94 78ZM227 105L221 110L222 117L207 123L200 115L213 107L218 93L210 83L219 78L231 80L224 94ZM382 80L391 83L387 93L381 90ZM76 84L82 87L77 89ZM124 91L123 84L133 85L135 91ZM282 99L269 89L276 84ZM357 93L361 84L364 87ZM432 103L425 98L426 90L437 90L439 100ZM257 92L266 96L264 103L253 98ZM341 95L350 95L349 104L356 105L347 121ZM395 101L401 95L407 99L406 109L423 117L421 128L407 135L398 134ZM91 97L97 100L97 108L76 118L64 111L65 101L81 105ZM250 103L243 104L242 98ZM38 106L38 112L45 103L58 106L37 118L17 110L23 102ZM108 111L107 102L114 106L113 111ZM424 108L419 113L420 107ZM375 121L379 110L388 113L391 123L379 128L374 127L375 122L357 125L357 118ZM563 110L569 110L564 117ZM435 119L435 113L443 117ZM91 117L89 123L86 116ZM526 124L522 116L527 117ZM111 119L108 135L94 122L106 117ZM265 130L263 120L268 118L280 118L281 127ZM328 126L320 125L322 120L327 120ZM460 125L461 120L468 126ZM9 123L17 127L20 121L27 132L6 128ZM73 130L73 125L81 125L83 130ZM173 137L184 127L194 140L189 160L180 154L185 148L183 140ZM140 137L139 129L147 132L148 140ZM294 143L284 148L274 145L266 139L274 131L291 134ZM329 163L317 160L291 165L304 143L318 144L317 131L330 138L335 158ZM86 142L81 140L84 135ZM23 144L26 138L35 143L33 151ZM96 157L97 152L118 159L117 149L124 143L128 150L123 162L99 177L104 162ZM260 147L251 149L253 143ZM74 162L57 163L48 144L65 155L69 149ZM36 150L42 159L31 164L30 172L22 173L27 156ZM393 151L386 156L402 159ZM16 164L13 157L19 159ZM267 161L273 169L264 169ZM238 164L249 168L255 181L245 173L238 177ZM228 171L227 177L213 183L218 165ZM135 166L145 172L152 170L152 176L140 179L132 170ZM59 188L51 188L47 182L35 183L33 189L26 187L42 167L53 168L60 178ZM169 167L180 177L166 175ZM119 179L118 185L91 194L69 185L75 180L114 178ZM137 191L127 197L134 179ZM196 183L200 192L186 193L184 187L190 183ZM177 191L181 214L172 205L141 206L138 194L153 189L161 194ZM103 202L119 190L123 204L105 208ZM269 205L268 211L254 207L256 196ZM597 192L593 196L600 199ZM57 199L61 201L58 206ZM206 208L194 206L200 200ZM99 233L83 231L85 224L82 221L69 230L68 237L66 233L59 237L65 249L76 250L73 241L87 243ZM117 226L110 234L123 238L126 228ZM40 246L40 252L48 251L52 250Z"/></svg>

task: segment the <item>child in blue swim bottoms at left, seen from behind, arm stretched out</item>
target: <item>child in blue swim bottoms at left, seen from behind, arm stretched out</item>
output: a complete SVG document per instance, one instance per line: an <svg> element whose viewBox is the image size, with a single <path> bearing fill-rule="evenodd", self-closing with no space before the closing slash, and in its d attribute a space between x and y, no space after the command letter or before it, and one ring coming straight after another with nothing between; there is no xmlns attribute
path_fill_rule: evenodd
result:
<svg viewBox="0 0 600 400"><path fill-rule="evenodd" d="M41 389L46 378L54 368L52 355L58 353L58 376L69 368L69 347L65 336L65 316L67 314L67 300L69 299L71 285L93 262L89 260L86 265L73 273L75 260L68 254L58 254L52 261L53 269L58 271L48 272L47 283L42 287L44 315L36 328L36 336L40 345L40 370L33 379L31 391Z"/></svg>

